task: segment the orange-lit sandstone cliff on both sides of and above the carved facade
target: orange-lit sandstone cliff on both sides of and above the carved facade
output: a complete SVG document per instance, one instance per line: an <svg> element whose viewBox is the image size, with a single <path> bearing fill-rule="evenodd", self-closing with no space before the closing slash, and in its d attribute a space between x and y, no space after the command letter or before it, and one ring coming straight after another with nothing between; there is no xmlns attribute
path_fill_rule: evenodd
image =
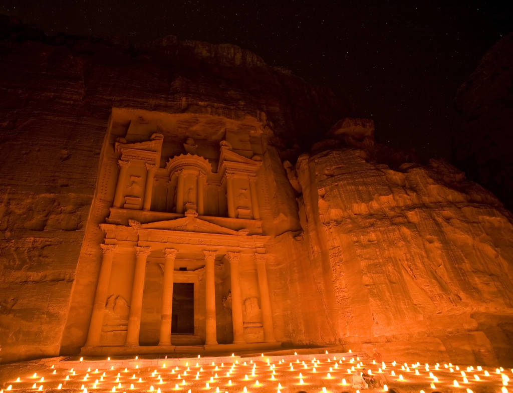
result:
<svg viewBox="0 0 513 393"><path fill-rule="evenodd" d="M112 202L92 205L117 108L180 117L184 136L262 131L277 340L378 347L387 360L509 359L511 215L457 169L398 165L410 160L373 146L364 120L339 122L336 140L310 150L350 106L235 46L167 37L134 48L2 24L2 362L84 344L89 317L73 299L94 296L100 249L84 235ZM81 249L91 264L78 263Z"/></svg>

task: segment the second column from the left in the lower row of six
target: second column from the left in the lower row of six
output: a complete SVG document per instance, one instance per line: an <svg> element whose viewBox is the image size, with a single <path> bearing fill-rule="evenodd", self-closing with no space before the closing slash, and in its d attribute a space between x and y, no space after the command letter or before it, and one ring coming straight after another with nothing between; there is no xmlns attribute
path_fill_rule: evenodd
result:
<svg viewBox="0 0 513 393"><path fill-rule="evenodd" d="M133 276L132 299L128 315L128 330L125 345L139 345L139 331L141 329L141 312L143 307L144 278L146 273L146 259L150 254L150 247L135 247L135 272Z"/></svg>

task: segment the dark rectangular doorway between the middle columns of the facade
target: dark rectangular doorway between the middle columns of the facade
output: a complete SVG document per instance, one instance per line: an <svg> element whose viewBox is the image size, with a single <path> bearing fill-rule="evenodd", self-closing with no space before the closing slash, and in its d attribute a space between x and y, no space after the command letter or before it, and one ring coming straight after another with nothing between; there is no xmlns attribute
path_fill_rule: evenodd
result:
<svg viewBox="0 0 513 393"><path fill-rule="evenodd" d="M173 284L171 333L194 334L194 284Z"/></svg>

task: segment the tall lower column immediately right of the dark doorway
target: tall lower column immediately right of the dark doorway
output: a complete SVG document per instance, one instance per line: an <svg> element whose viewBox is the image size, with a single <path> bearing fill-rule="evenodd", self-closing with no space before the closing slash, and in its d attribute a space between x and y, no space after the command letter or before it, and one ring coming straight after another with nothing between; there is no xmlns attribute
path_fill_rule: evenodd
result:
<svg viewBox="0 0 513 393"><path fill-rule="evenodd" d="M215 328L215 254L216 251L203 251L205 254L205 345L217 344Z"/></svg>

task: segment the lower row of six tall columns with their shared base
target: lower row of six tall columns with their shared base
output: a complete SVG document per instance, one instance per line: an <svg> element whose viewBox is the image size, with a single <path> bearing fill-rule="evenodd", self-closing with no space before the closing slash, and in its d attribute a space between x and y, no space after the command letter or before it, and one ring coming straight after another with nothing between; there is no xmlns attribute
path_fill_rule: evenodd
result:
<svg viewBox="0 0 513 393"><path fill-rule="evenodd" d="M102 327L109 295L111 282L112 265L116 251L126 245L101 244L102 263L97 280L94 303L91 313L87 341L82 347L84 355L115 355L134 353L168 353L173 351L188 352L198 351L199 346L175 346L172 343L172 307L173 307L173 283L175 276L175 259L179 254L180 245L177 248L158 248L154 245L135 245L135 268L133 272L133 283L131 287L131 298L129 303L128 325L126 339L123 346L108 345L102 343ZM160 335L157 345L140 345L141 320L143 310L143 293L145 289L146 266L150 253L163 253L163 287L162 287L162 310L160 320ZM244 337L243 300L241 296L240 264L241 254L232 250L211 250L202 249L204 260L204 290L205 290L205 340L203 350L223 349L260 349L277 348L281 343L274 338L271 302L267 283L266 257L265 253L253 250L252 260L256 265L258 290L260 293L262 329L264 341L260 343L247 343ZM248 254L247 250L244 252ZM215 260L216 257L225 257L229 263L230 288L231 288L231 319L233 342L231 344L218 344L216 334L216 290L215 290ZM196 307L196 305L194 306Z"/></svg>

